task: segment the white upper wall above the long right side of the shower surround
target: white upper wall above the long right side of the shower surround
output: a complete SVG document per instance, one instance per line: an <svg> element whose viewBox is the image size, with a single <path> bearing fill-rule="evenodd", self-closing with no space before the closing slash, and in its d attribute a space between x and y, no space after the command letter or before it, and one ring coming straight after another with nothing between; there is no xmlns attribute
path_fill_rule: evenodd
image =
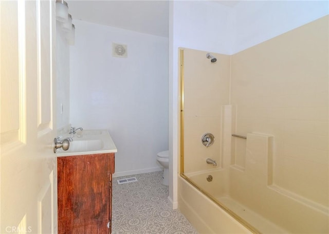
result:
<svg viewBox="0 0 329 234"><path fill-rule="evenodd" d="M241 1L232 8L232 54L328 14L328 1Z"/></svg>

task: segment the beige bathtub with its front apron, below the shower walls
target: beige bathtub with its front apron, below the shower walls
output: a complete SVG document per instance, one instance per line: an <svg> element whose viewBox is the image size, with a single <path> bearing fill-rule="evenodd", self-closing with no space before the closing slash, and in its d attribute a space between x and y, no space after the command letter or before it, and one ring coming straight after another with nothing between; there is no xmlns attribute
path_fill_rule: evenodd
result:
<svg viewBox="0 0 329 234"><path fill-rule="evenodd" d="M263 199L259 207L243 204L230 187L238 171L230 167L179 176L178 208L199 233L328 233L324 207L286 196L275 187L267 186L267 203ZM211 182L208 175L213 178Z"/></svg>

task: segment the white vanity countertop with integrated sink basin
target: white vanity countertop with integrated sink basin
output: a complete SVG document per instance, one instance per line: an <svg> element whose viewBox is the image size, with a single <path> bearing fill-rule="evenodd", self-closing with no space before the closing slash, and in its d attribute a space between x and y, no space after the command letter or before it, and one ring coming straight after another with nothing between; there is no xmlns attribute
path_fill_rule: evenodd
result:
<svg viewBox="0 0 329 234"><path fill-rule="evenodd" d="M64 134L60 136L60 140L62 141L68 137L72 139L70 147L67 151L59 148L56 152L57 157L118 152L107 130L77 131L75 134Z"/></svg>

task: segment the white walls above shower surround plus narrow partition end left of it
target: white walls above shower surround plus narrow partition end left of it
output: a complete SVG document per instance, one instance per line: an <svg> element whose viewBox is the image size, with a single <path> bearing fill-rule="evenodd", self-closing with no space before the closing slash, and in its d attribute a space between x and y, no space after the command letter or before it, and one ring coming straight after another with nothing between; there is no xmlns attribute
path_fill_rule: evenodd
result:
<svg viewBox="0 0 329 234"><path fill-rule="evenodd" d="M290 3L293 2L293 3ZM234 54L328 14L327 1L241 1L170 3L169 201L177 207L178 48Z"/></svg>

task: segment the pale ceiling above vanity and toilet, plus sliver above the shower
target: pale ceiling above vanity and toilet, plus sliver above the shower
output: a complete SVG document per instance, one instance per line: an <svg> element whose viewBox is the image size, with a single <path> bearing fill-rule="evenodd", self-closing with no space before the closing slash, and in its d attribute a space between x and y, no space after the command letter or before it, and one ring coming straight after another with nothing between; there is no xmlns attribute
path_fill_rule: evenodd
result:
<svg viewBox="0 0 329 234"><path fill-rule="evenodd" d="M241 1L212 1L234 7ZM169 1L68 0L73 19L168 37Z"/></svg>

